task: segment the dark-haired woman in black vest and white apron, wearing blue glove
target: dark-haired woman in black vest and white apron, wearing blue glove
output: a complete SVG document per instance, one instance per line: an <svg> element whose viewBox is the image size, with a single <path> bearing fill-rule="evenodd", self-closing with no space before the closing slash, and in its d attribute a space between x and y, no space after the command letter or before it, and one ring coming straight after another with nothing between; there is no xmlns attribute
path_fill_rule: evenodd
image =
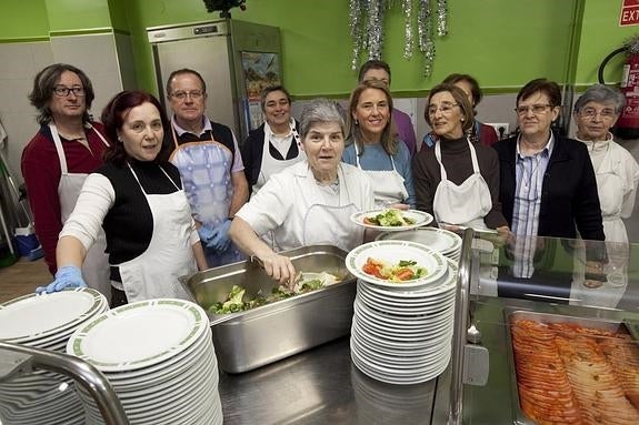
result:
<svg viewBox="0 0 639 425"><path fill-rule="evenodd" d="M142 91L117 94L102 111L113 143L106 164L87 178L57 249L56 281L38 292L84 286L80 266L100 226L107 235L112 306L156 297L186 297L178 277L206 269L202 246L172 150L162 143L169 121Z"/></svg>

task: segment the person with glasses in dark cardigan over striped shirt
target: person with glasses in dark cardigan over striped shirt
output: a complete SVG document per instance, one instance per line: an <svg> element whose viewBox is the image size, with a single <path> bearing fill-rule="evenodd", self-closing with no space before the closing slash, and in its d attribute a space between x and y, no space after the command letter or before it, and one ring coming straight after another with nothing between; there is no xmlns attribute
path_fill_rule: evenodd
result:
<svg viewBox="0 0 639 425"><path fill-rule="evenodd" d="M493 145L499 155L500 201L516 236L515 275L530 277L536 236L603 241L597 181L582 143L551 130L561 91L546 79L517 94L520 133Z"/></svg>

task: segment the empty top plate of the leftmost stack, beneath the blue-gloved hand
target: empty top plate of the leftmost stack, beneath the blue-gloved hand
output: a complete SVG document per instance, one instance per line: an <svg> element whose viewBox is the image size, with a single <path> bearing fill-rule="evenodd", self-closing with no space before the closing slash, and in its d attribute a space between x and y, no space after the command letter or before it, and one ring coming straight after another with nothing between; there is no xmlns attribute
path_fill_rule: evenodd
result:
<svg viewBox="0 0 639 425"><path fill-rule="evenodd" d="M28 294L0 304L0 340L12 343L51 337L103 311L107 298L88 287ZM31 344L33 345L33 344Z"/></svg>

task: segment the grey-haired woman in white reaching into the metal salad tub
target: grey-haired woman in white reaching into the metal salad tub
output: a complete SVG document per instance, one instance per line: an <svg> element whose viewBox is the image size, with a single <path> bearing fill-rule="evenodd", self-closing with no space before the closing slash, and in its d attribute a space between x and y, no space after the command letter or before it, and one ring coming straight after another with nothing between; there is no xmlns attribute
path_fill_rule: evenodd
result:
<svg viewBox="0 0 639 425"><path fill-rule="evenodd" d="M272 175L238 211L230 229L233 242L281 283L292 282L296 272L277 251L314 244L352 250L362 243L363 230L350 216L373 206L368 175L340 161L345 122L336 102L316 99L307 104L300 136L307 160ZM276 250L260 239L267 232L272 232Z"/></svg>

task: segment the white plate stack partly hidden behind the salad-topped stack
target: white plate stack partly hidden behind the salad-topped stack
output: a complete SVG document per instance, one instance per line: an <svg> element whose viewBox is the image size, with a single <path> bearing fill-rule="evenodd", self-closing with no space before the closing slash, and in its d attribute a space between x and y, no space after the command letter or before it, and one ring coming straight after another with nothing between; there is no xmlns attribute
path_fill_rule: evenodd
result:
<svg viewBox="0 0 639 425"><path fill-rule="evenodd" d="M420 227L403 232L387 232L377 236L377 241L411 241L421 243L440 254L459 262L461 237L451 231L438 227Z"/></svg>

